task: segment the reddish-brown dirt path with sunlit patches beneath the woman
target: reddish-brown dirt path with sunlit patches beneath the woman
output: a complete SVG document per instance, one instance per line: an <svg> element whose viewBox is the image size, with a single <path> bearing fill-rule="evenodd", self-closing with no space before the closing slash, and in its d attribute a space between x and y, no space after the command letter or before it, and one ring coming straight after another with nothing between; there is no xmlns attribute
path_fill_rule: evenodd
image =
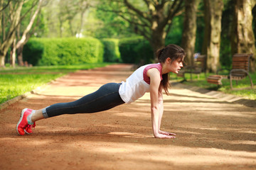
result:
<svg viewBox="0 0 256 170"><path fill-rule="evenodd" d="M23 108L74 101L107 82L129 76L131 66L79 71L0 113L0 169L256 169L255 108L227 103L175 86L164 96L162 129L151 132L149 94L130 105L95 114L40 120L33 135L16 134Z"/></svg>

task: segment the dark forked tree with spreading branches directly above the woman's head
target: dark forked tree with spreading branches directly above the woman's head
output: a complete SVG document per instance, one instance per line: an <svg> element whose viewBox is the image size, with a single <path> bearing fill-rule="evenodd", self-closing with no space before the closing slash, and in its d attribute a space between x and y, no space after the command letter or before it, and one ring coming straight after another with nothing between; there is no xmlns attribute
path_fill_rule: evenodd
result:
<svg viewBox="0 0 256 170"><path fill-rule="evenodd" d="M182 11L183 0L110 0L117 3L119 9L109 11L117 13L128 21L134 31L149 41L154 51L165 45L166 34L171 28L171 21ZM107 11L100 8L103 11Z"/></svg>

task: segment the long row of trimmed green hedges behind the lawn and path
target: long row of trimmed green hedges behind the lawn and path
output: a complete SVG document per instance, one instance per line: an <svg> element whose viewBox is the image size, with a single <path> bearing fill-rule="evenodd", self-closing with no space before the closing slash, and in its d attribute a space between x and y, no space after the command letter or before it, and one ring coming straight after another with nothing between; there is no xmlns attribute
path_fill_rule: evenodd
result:
<svg viewBox="0 0 256 170"><path fill-rule="evenodd" d="M33 65L68 65L94 62L149 63L154 53L141 37L31 38L23 48L23 60Z"/></svg>

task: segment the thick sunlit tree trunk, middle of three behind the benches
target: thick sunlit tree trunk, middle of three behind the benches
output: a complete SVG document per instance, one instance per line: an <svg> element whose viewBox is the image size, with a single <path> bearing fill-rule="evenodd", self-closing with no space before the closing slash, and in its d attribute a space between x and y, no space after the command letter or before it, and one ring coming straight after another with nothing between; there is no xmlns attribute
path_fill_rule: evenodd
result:
<svg viewBox="0 0 256 170"><path fill-rule="evenodd" d="M207 70L216 72L220 67L220 33L222 0L204 0L205 33L203 39L203 55L207 55Z"/></svg>

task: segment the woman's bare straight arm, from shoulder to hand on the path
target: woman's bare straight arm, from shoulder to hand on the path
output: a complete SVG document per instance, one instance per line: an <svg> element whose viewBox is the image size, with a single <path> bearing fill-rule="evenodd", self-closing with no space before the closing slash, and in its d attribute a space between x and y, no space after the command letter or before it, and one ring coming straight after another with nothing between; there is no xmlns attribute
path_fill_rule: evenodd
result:
<svg viewBox="0 0 256 170"><path fill-rule="evenodd" d="M150 77L151 122L153 134L156 138L174 138L174 136L159 133L162 115L161 110L164 110L161 108L161 105L159 105L159 86L161 82L159 74L159 70L155 68L149 69L147 72L147 75Z"/></svg>

